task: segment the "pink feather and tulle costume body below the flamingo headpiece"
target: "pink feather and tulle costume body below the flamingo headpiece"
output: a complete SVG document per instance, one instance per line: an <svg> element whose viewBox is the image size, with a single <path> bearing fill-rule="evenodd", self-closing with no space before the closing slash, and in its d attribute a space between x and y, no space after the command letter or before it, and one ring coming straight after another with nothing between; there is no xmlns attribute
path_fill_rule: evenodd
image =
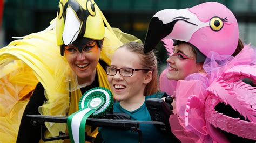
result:
<svg viewBox="0 0 256 143"><path fill-rule="evenodd" d="M176 115L169 119L172 132L182 142L228 142L215 126L256 140L256 89L241 81L242 78L256 81L256 51L245 45L235 58L226 56L228 60L222 63L215 58L219 58L217 53L205 61L207 74L194 73L185 80L169 81L167 69L161 73L160 90L176 97ZM251 122L218 113L214 106L219 102L229 104Z"/></svg>

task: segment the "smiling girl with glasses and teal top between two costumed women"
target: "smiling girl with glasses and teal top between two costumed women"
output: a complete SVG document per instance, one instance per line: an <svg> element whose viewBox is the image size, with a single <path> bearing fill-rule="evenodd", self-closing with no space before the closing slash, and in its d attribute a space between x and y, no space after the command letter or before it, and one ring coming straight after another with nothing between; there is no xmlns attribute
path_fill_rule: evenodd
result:
<svg viewBox="0 0 256 143"><path fill-rule="evenodd" d="M157 60L153 51L144 54L143 44L130 42L114 53L107 67L107 79L117 103L114 112L130 115L132 120L151 121L147 98L156 98ZM153 124L140 124L143 142L171 142ZM100 128L104 142L138 142L138 133L117 128Z"/></svg>

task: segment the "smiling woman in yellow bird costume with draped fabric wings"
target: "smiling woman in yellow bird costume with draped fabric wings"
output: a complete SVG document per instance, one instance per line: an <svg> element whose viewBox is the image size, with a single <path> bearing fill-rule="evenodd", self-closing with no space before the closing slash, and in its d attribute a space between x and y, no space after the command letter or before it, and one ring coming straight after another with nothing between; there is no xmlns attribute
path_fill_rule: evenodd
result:
<svg viewBox="0 0 256 143"><path fill-rule="evenodd" d="M86 90L110 89L104 68L130 41L140 42L111 28L93 0L60 0L46 30L0 49L0 142L43 142L26 115L70 115ZM45 137L66 132L65 124L45 126ZM88 135L97 135L86 128Z"/></svg>

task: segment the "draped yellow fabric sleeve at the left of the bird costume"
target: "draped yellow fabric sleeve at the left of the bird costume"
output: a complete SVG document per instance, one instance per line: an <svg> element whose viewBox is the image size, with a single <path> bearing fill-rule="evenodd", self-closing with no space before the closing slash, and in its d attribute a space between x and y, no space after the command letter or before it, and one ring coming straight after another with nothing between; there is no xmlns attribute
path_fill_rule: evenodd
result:
<svg viewBox="0 0 256 143"><path fill-rule="evenodd" d="M48 103L63 99L58 108L48 106L48 111L65 115L69 105L65 83L68 66L55 39L53 30L33 33L0 49L0 142L16 142L25 106L38 81L44 86Z"/></svg>

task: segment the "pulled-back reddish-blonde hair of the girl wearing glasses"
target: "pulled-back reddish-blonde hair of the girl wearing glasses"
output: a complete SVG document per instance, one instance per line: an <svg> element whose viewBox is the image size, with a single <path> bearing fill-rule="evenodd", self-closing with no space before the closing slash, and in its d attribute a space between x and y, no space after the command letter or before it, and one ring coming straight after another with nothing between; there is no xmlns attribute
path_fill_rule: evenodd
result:
<svg viewBox="0 0 256 143"><path fill-rule="evenodd" d="M128 42L119 48L126 48L131 52L134 52L139 55L140 63L143 68L149 69L152 71L152 80L146 85L144 89L144 95L152 95L158 91L157 79L158 79L158 70L157 70L157 58L154 55L153 51L148 53L143 52L144 45L137 42Z"/></svg>

